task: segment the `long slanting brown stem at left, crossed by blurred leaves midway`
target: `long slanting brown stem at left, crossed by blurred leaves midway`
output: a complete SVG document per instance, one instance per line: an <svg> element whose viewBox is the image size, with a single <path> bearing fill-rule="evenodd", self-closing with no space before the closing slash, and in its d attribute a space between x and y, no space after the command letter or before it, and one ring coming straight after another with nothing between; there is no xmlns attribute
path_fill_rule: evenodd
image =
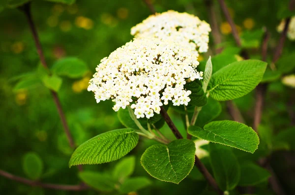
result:
<svg viewBox="0 0 295 195"><path fill-rule="evenodd" d="M44 57L44 54L43 54L43 50L42 50L42 47L41 47L41 43L40 43L40 40L39 40L37 29L36 29L36 26L35 26L35 24L34 24L34 22L32 20L32 16L31 16L31 12L30 12L30 3L26 3L22 7L22 10L24 11L24 13L25 13L25 15L26 15L26 17L28 19L29 28L31 30L31 33L32 33L32 36L33 36L33 39L34 39L35 46L36 46L36 49L37 49L37 52L38 52L38 55L39 55L41 64L49 72L49 68L47 66L47 63L46 63L46 60L45 60L45 57ZM56 104L56 107L58 109L59 118L61 120L61 123L62 123L63 129L64 129L64 132L66 134L67 140L69 142L69 145L72 148L75 148L74 140L73 140L73 138L71 136L71 133L70 133L68 124L66 122L64 113L62 111L62 107L61 107L61 104L60 104L60 101L59 101L58 94L55 91L53 91L53 90L50 90L50 92L52 94L52 97L53 97L54 102Z"/></svg>

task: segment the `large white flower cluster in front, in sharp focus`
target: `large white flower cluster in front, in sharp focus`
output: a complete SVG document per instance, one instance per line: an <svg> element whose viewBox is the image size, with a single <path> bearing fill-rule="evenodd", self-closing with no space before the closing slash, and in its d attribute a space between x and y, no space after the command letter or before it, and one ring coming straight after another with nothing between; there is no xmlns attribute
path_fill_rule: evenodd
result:
<svg viewBox="0 0 295 195"><path fill-rule="evenodd" d="M168 24L169 25L169 24ZM101 60L89 82L97 103L112 99L115 111L131 105L137 118L160 113L160 106L187 105L187 81L202 79L198 52L172 37L134 39Z"/></svg>

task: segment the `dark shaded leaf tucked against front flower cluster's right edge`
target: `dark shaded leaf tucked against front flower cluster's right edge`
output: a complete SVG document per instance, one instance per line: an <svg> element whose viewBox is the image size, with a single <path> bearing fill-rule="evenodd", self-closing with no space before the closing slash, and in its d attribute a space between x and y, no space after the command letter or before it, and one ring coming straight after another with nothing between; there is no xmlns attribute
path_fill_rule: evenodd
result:
<svg viewBox="0 0 295 195"><path fill-rule="evenodd" d="M194 106L204 106L207 104L207 97L203 91L200 80L194 80L184 85L186 90L190 90L192 93L189 95L191 98L189 104Z"/></svg>

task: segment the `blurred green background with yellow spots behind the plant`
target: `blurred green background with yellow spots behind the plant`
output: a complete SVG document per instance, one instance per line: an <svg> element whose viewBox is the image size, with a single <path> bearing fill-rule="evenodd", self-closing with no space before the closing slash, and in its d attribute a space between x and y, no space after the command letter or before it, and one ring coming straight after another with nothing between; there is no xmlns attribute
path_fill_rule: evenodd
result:
<svg viewBox="0 0 295 195"><path fill-rule="evenodd" d="M207 0L153 0L151 2L157 12L170 9L188 12L209 23ZM237 29L244 37L244 47L249 50L251 58L261 58L259 46L262 37L260 32L263 32L263 27L267 27L271 32L269 53L272 52L279 37L276 26L280 20L277 19L276 13L280 13L282 2L227 0ZM231 28L225 22L217 1L213 0L213 4L222 35L221 46L234 46ZM48 66L52 67L55 61L63 57L74 56L86 62L89 69L79 78L62 77L62 85L58 92L76 145L79 146L100 133L123 127L118 121L117 113L111 108L112 102L105 101L97 104L93 94L87 91L87 86L100 60L130 41L132 39L130 28L150 15L146 4L142 0L77 0L72 5L33 0L31 6L33 20L38 28ZM0 26L0 169L27 177L23 170L24 156L28 152L35 152L44 164L42 182L78 184L80 180L77 176L77 168L68 168L68 161L73 150L68 146L49 90L42 84L25 90L14 90L21 79L37 72L40 66L27 20L18 9L4 9L0 12ZM258 35L254 35L254 32ZM247 37L247 33L250 33L250 38ZM213 48L216 45L212 37L210 37L210 45L209 51L200 56L200 61L207 60L209 55L214 55ZM294 50L294 43L287 40L284 53L288 54ZM254 93L250 93L235 101L249 125L252 125L254 98ZM295 110L294 99L294 89L284 86L281 80L273 82L269 86L263 123L270 125L274 131L290 127L291 119L288 110ZM219 119L230 119L225 104L222 106L223 112ZM170 110L170 114L173 115L177 127L184 133L181 118L173 110ZM167 137L174 139L167 126L164 127L163 132ZM154 143L141 138L140 144L128 154L136 157L133 175L147 176L153 182L150 187L138 191L138 194L201 194L207 185L204 180L196 178L197 176L189 176L176 185L155 180L144 171L140 165L140 156L145 148ZM295 188L292 186L292 178L295 174L294 153L279 152L272 158L274 158L272 164L283 186L288 192L294 192ZM284 158L288 160L282 160ZM116 163L84 166L84 169L105 172L112 170ZM287 173L289 176L285 175ZM264 193L266 192L263 191L262 194ZM43 190L0 177L0 194L94 195L104 193L93 190L84 192Z"/></svg>

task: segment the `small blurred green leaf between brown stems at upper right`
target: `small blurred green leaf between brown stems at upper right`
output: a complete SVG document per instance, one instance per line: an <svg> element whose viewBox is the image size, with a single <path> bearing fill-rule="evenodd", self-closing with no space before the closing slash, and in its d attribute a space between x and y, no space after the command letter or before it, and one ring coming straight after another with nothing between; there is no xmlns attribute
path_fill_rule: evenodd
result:
<svg viewBox="0 0 295 195"><path fill-rule="evenodd" d="M263 28L254 31L243 31L241 34L242 48L259 48L264 33Z"/></svg>

